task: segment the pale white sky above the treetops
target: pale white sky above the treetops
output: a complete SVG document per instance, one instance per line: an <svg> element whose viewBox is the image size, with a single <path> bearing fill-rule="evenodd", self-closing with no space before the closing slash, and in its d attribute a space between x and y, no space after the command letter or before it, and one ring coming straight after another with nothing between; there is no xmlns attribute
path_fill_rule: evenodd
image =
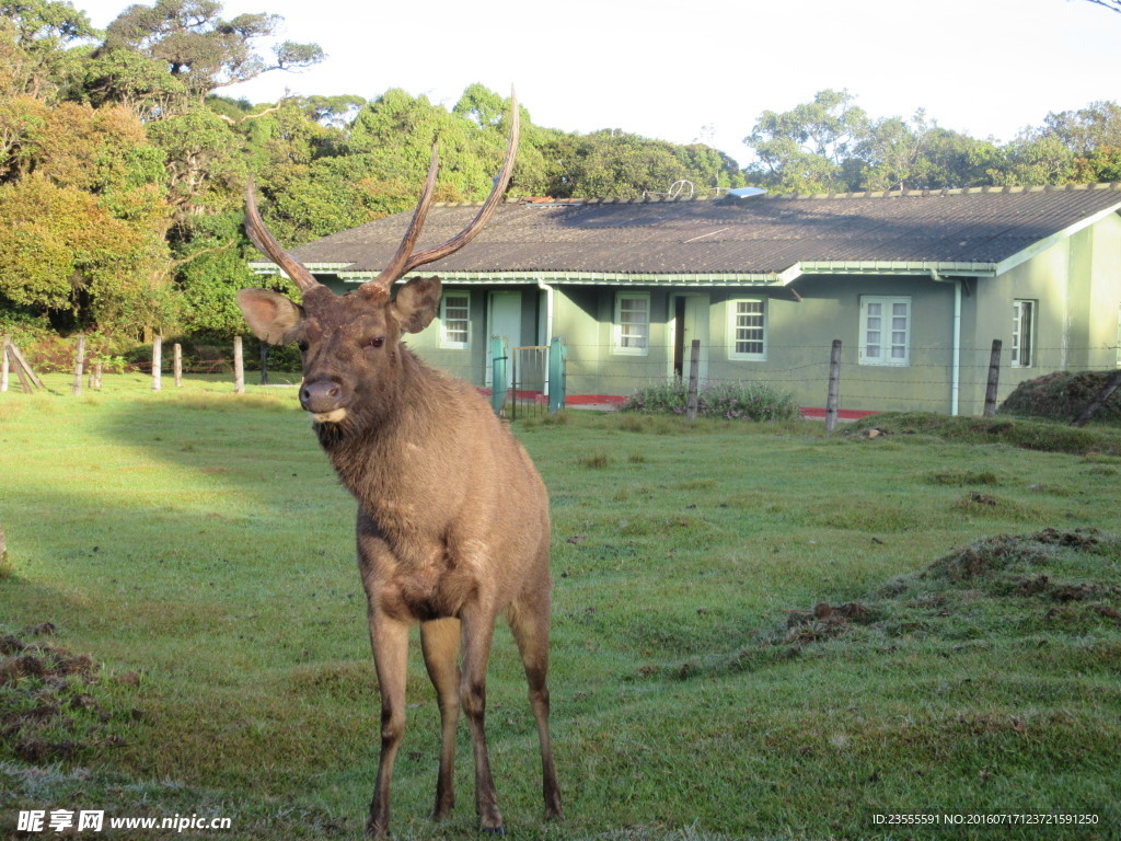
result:
<svg viewBox="0 0 1121 841"><path fill-rule="evenodd" d="M128 6L73 1L98 27ZM1085 0L225 0L224 11L280 15L281 38L327 53L225 95L404 87L451 108L473 82L512 84L539 126L702 140L740 164L760 112L825 87L872 117L924 108L1001 141L1049 111L1121 100L1121 15Z"/></svg>

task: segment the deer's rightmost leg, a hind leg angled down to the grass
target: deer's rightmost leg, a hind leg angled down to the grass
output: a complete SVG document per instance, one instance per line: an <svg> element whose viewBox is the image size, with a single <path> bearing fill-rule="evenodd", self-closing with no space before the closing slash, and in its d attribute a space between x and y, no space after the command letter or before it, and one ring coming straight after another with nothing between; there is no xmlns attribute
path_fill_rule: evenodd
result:
<svg viewBox="0 0 1121 841"><path fill-rule="evenodd" d="M560 789L553 767L553 742L549 738L549 690L546 675L549 668L549 594L537 594L531 602L515 602L510 609L510 630L521 653L529 684L529 704L537 721L537 739L541 748L541 791L545 796L545 817L564 817L560 808Z"/></svg>

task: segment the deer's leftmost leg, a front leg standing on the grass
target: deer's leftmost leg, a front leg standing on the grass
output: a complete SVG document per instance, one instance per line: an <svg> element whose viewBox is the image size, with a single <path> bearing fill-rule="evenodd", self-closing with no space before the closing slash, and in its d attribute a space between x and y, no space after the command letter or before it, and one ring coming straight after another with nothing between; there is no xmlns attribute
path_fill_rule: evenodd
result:
<svg viewBox="0 0 1121 841"><path fill-rule="evenodd" d="M408 668L409 627L383 617L370 617L370 641L381 691L381 757L378 783L370 802L369 838L385 838L389 832L389 786L393 759L405 734L405 678Z"/></svg>

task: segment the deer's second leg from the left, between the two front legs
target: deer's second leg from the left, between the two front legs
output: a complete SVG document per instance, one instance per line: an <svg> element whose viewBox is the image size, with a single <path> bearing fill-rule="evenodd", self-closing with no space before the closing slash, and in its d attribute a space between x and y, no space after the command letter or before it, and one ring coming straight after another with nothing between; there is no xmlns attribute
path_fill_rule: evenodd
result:
<svg viewBox="0 0 1121 841"><path fill-rule="evenodd" d="M434 821L447 817L455 805L455 727L460 720L460 620L436 619L420 625L420 647L428 677L439 703L439 776Z"/></svg>

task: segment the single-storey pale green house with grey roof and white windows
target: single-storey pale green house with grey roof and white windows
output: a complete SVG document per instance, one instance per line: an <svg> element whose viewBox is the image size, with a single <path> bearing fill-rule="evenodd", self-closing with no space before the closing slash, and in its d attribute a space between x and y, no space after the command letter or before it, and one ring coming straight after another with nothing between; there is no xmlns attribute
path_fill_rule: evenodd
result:
<svg viewBox="0 0 1121 841"><path fill-rule="evenodd" d="M492 335L559 336L578 399L687 375L698 339L703 379L770 381L819 407L840 339L843 409L980 414L994 339L1001 398L1049 371L1119 364L1119 211L1121 184L509 201L416 272L438 275L444 298L408 342L487 386ZM434 205L418 248L475 212ZM378 274L408 220L293 255L342 293Z"/></svg>

